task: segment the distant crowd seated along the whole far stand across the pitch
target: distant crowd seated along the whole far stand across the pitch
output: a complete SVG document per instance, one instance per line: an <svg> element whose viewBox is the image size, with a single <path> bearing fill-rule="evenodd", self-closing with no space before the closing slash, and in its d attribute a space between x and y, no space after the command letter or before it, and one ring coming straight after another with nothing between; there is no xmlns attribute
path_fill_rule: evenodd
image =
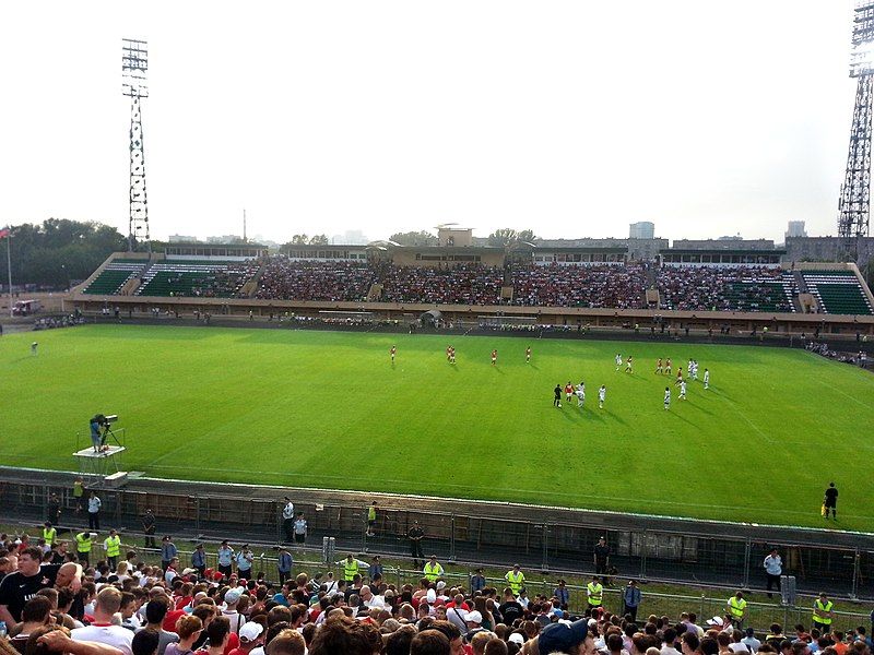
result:
<svg viewBox="0 0 874 655"><path fill-rule="evenodd" d="M232 266L199 281L192 294L234 295L251 275L249 269ZM268 262L256 298L364 301L375 283L381 294L373 299L427 305L501 305L507 302L501 298L505 284L512 286L512 305L523 307L643 309L646 290L656 287L669 310L792 311L795 294L790 274L761 266L553 263L515 265L507 272L479 263L398 266L276 257Z"/></svg>

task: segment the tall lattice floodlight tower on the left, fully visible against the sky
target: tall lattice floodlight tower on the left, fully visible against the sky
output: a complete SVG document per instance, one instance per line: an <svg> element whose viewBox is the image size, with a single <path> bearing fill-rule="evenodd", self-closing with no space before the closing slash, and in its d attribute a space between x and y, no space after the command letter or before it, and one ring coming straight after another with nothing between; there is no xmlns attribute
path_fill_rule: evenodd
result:
<svg viewBox="0 0 874 655"><path fill-rule="evenodd" d="M128 250L149 241L149 203L145 196L145 150L140 100L149 97L145 73L149 70L149 46L144 40L121 39L121 93L130 97L130 218Z"/></svg>

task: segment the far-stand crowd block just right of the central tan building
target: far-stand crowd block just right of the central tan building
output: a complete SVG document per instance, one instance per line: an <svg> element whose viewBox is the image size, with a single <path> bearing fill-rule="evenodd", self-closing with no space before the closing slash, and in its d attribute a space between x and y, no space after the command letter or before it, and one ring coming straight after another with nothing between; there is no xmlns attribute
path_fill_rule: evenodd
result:
<svg viewBox="0 0 874 655"><path fill-rule="evenodd" d="M516 267L513 305L640 309L647 270L641 264Z"/></svg>

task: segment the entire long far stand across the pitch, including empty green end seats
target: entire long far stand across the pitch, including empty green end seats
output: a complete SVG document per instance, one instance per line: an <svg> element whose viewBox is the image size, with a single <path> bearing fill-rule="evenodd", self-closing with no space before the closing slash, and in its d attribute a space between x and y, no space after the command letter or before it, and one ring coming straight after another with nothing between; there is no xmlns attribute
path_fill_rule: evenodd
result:
<svg viewBox="0 0 874 655"><path fill-rule="evenodd" d="M141 281L139 288L128 284ZM127 285L127 286L126 286ZM450 263L342 260L161 261L116 258L86 295L257 298L332 302L661 309L874 315L854 270L760 265ZM807 295L810 294L810 296ZM810 298L810 301L802 297Z"/></svg>

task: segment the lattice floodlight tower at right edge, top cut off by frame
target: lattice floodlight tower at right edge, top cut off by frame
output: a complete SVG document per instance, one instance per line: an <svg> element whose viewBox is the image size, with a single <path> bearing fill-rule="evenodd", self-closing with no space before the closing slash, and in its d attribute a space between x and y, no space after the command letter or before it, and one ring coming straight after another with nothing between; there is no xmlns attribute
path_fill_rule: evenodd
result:
<svg viewBox="0 0 874 655"><path fill-rule="evenodd" d="M850 76L858 80L847 171L838 200L838 237L853 261L869 234L871 210L871 119L874 108L874 0L857 0Z"/></svg>

